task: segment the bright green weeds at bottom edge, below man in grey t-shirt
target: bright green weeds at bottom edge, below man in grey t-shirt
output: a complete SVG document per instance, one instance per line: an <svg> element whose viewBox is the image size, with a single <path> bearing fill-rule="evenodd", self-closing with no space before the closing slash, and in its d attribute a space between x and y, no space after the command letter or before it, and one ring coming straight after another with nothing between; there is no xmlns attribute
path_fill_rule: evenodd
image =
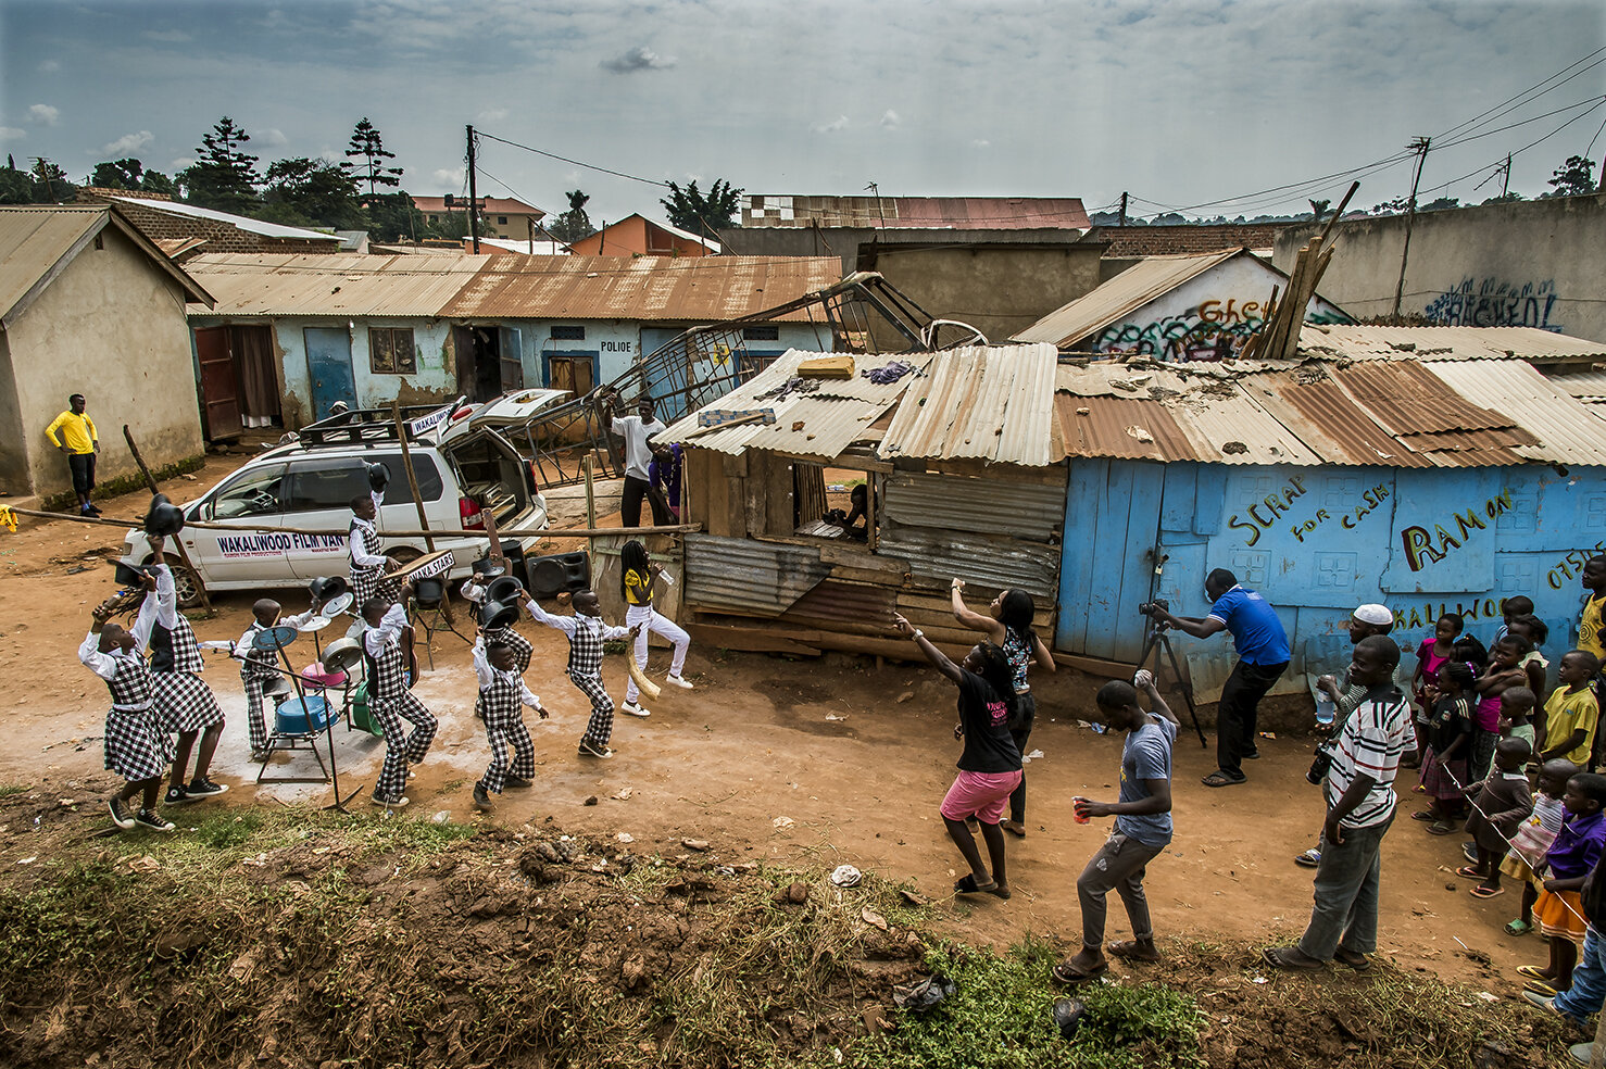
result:
<svg viewBox="0 0 1606 1069"><path fill-rule="evenodd" d="M1142 1069L1204 1066L1201 1014L1187 994L1160 984L1087 984L1076 997L1087 1005L1070 1042L1054 1024L1063 994L1049 982L1055 955L1028 939L999 955L948 945L927 966L957 990L927 1014L893 1011L896 1030L872 1035L846 1051L846 1064L866 1069ZM834 1059L832 1059L834 1061Z"/></svg>

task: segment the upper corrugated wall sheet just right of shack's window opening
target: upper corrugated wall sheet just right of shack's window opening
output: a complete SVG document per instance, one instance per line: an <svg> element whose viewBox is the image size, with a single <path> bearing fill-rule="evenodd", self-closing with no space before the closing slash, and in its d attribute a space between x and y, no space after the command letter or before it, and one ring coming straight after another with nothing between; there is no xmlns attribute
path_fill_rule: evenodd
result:
<svg viewBox="0 0 1606 1069"><path fill-rule="evenodd" d="M1041 486L1015 480L895 472L887 478L880 515L904 526L983 534L996 534L1001 526L1007 526L1013 538L1049 543L1065 526L1065 483ZM1009 517L1007 525L1001 525L999 517Z"/></svg>

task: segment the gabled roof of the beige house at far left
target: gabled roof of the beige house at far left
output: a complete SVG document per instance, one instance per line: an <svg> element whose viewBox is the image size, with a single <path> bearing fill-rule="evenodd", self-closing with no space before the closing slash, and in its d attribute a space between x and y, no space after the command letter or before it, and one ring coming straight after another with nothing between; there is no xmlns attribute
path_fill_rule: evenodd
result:
<svg viewBox="0 0 1606 1069"><path fill-rule="evenodd" d="M175 265L116 207L19 205L0 207L0 324L10 326L43 292L45 286L106 226L116 226L151 262L172 276L194 300L212 294Z"/></svg>

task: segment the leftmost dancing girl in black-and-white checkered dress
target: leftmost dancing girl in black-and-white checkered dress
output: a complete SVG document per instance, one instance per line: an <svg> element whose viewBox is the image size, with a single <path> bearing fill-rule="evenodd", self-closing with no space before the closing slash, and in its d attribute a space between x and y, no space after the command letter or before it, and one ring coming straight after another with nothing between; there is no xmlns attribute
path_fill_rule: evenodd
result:
<svg viewBox="0 0 1606 1069"><path fill-rule="evenodd" d="M146 586L154 587L154 579L146 576ZM137 823L154 831L172 831L173 825L156 812L156 793L162 787L162 772L172 758L172 742L156 722L151 673L137 652L138 640L109 623L112 610L112 602L103 602L95 608L95 623L79 645L79 660L104 679L111 690L111 709L106 713L106 769L128 782L106 799L106 809L112 822L125 831ZM130 815L128 803L135 795L141 795L141 807Z"/></svg>

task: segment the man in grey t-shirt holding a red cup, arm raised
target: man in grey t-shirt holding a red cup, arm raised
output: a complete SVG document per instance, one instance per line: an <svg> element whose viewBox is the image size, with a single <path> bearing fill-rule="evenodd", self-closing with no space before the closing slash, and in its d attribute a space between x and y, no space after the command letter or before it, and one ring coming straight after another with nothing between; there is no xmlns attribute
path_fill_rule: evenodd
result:
<svg viewBox="0 0 1606 1069"><path fill-rule="evenodd" d="M1132 961L1158 961L1155 931L1143 896L1148 862L1171 843L1171 746L1177 717L1155 689L1155 677L1140 671L1134 682L1148 695L1150 711L1137 703L1132 684L1107 682L1099 689L1099 711L1110 727L1126 730L1121 746L1121 798L1115 803L1076 799L1076 819L1115 817L1115 831L1099 847L1076 880L1082 905L1082 949L1054 966L1054 978L1079 984L1110 971L1105 958L1105 896L1115 891L1126 904L1132 937L1108 945L1110 953Z"/></svg>

